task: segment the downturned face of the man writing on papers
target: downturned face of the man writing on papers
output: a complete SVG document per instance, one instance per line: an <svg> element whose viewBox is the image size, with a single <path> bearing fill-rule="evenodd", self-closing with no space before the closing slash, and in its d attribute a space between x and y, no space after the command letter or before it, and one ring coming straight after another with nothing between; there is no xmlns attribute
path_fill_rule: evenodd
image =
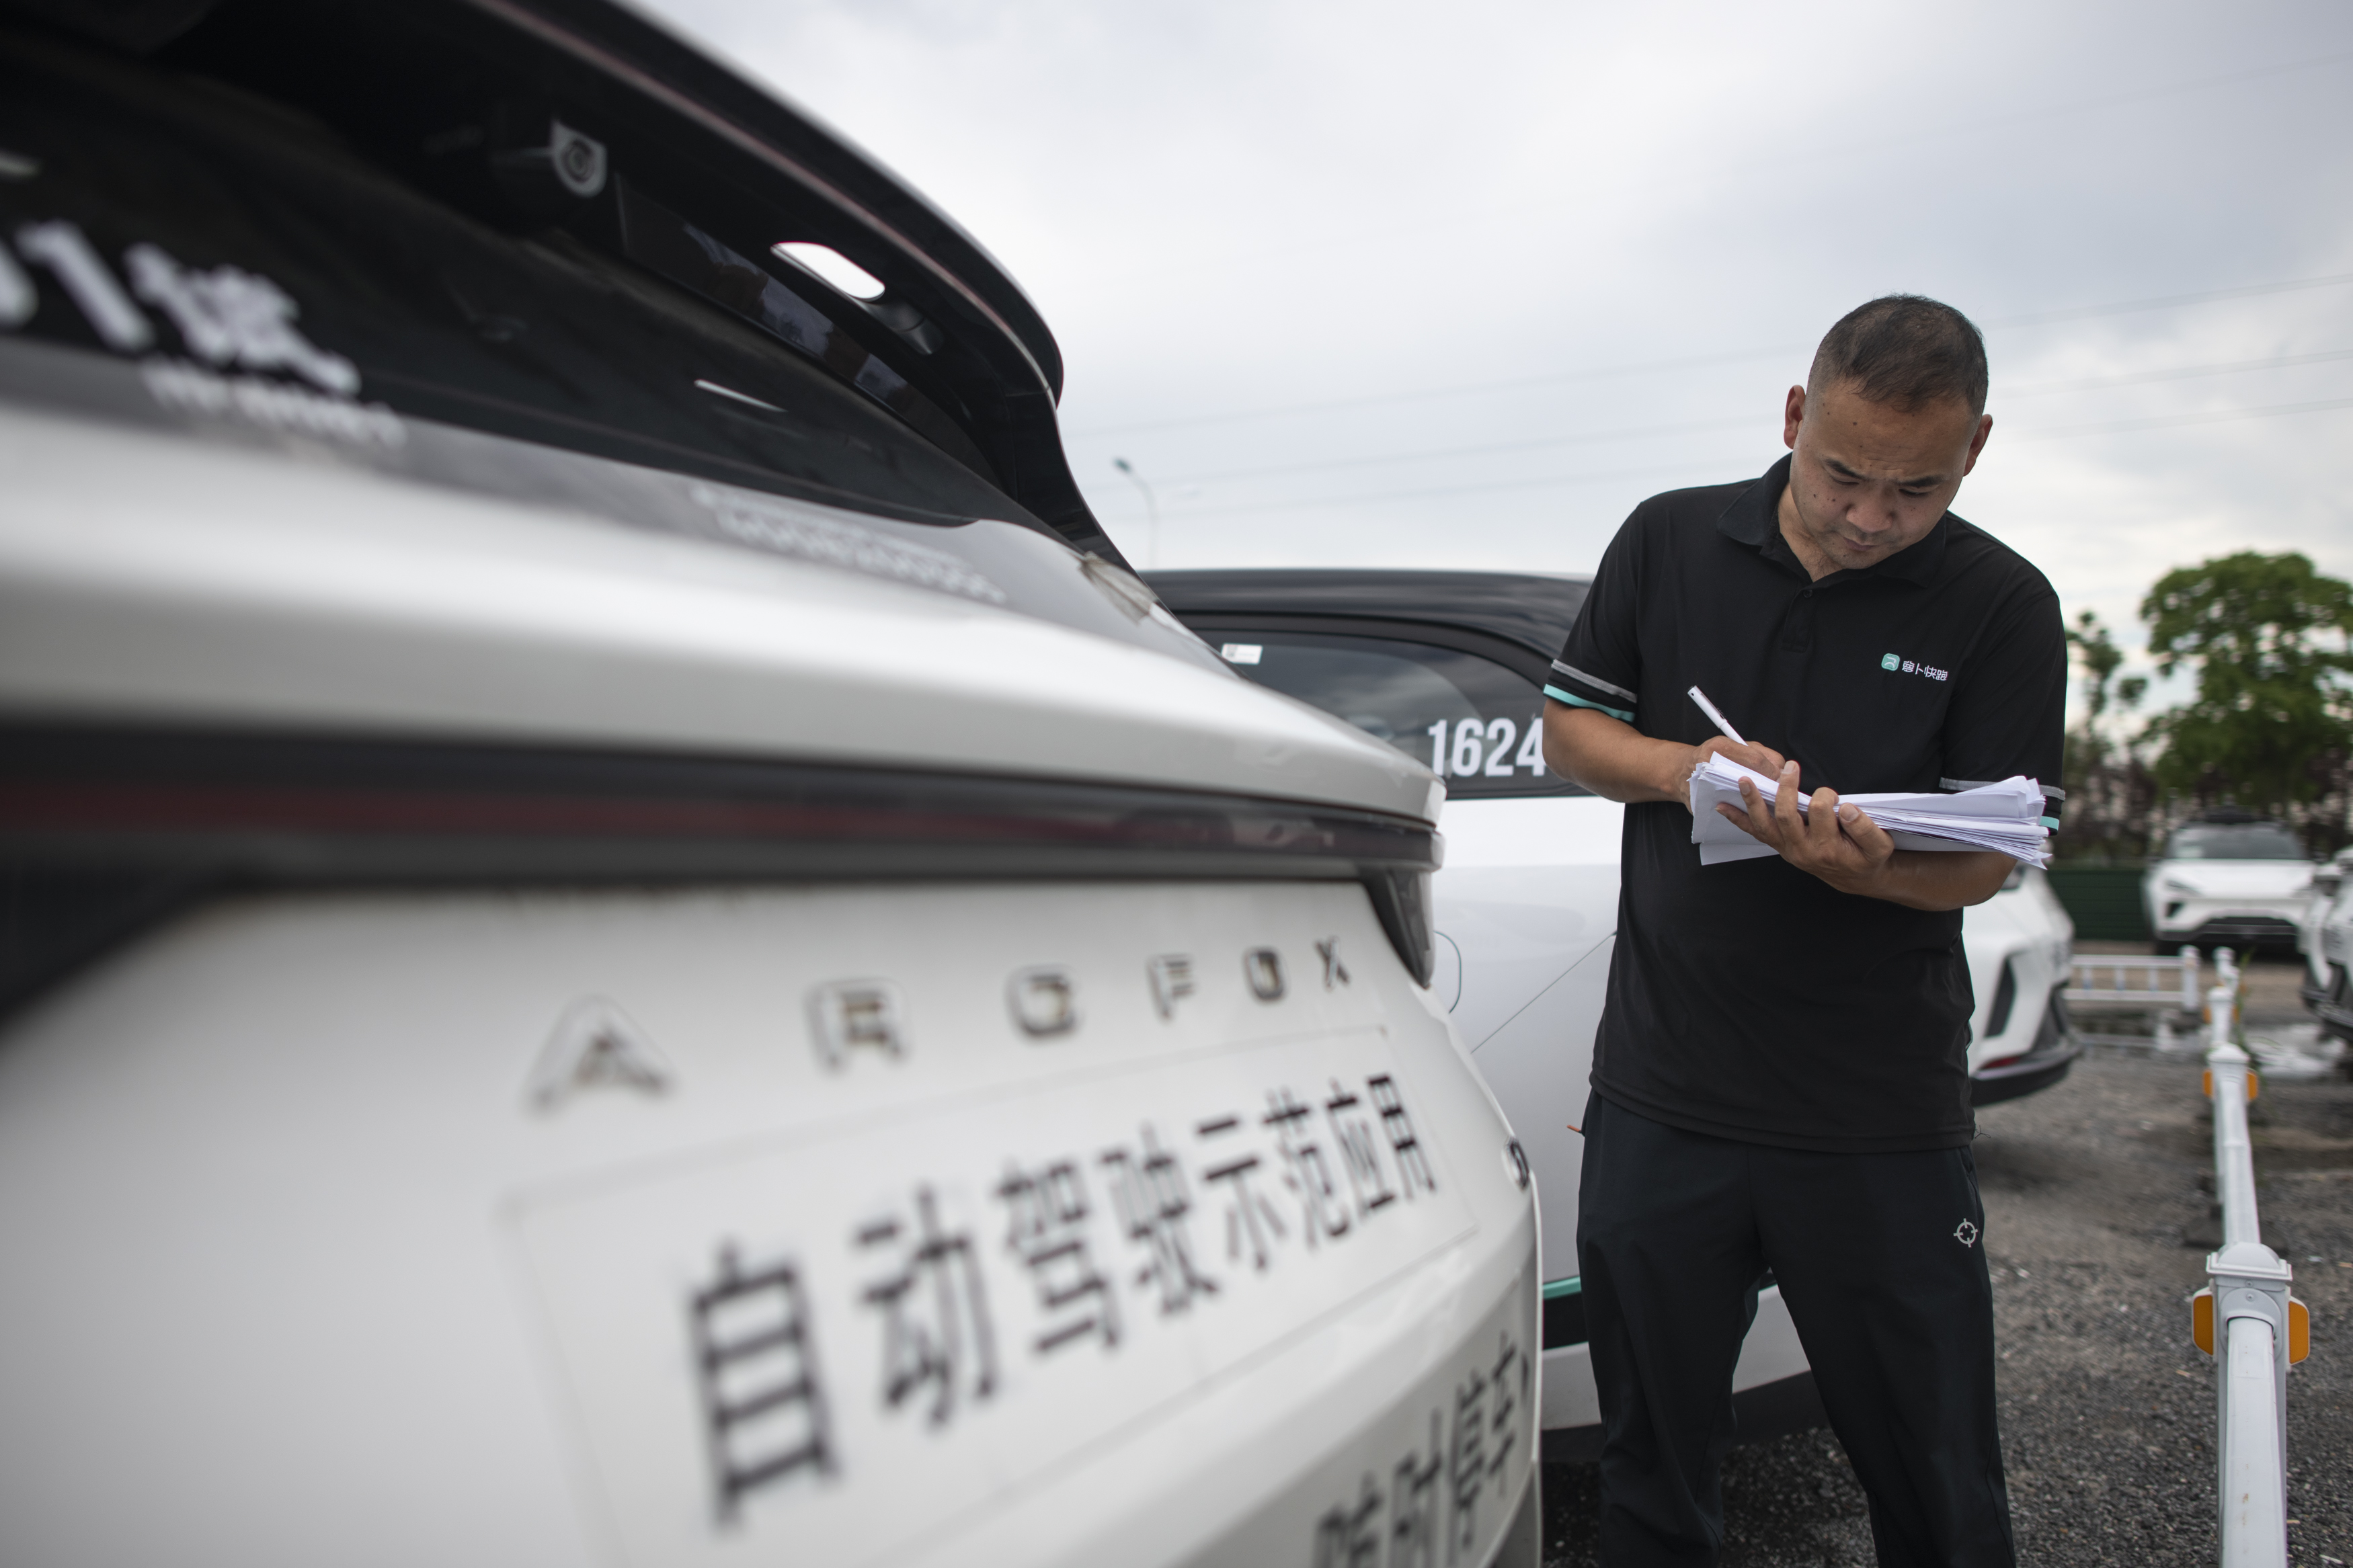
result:
<svg viewBox="0 0 2353 1568"><path fill-rule="evenodd" d="M1906 414L1845 381L1814 397L1793 386L1781 428L1798 454L1781 496L1784 536L1814 576L1875 567L1927 538L1991 433L1993 418L1958 397Z"/></svg>

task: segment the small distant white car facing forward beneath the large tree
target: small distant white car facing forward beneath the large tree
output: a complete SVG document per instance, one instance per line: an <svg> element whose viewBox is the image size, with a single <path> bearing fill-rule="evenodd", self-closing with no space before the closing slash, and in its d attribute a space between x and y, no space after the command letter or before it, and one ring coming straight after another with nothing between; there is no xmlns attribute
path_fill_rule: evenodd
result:
<svg viewBox="0 0 2353 1568"><path fill-rule="evenodd" d="M2285 825L2221 806L2174 827L2141 875L2141 912L2158 947L2297 945L2313 898L2313 860Z"/></svg>

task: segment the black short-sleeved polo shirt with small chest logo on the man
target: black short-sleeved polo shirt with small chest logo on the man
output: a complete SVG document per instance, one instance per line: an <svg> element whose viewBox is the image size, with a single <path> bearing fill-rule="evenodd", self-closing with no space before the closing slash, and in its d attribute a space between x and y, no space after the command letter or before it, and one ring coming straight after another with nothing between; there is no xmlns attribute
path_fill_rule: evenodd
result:
<svg viewBox="0 0 2353 1568"><path fill-rule="evenodd" d="M1946 512L1817 581L1762 480L1652 496L1602 555L1546 696L1697 745L1699 686L1805 790L2057 785L2059 597ZM2057 797L2057 788L2047 790ZM1593 1088L1671 1126L1795 1150L1969 1143L1960 912L1840 893L1779 856L1701 865L1685 806L1626 806Z"/></svg>

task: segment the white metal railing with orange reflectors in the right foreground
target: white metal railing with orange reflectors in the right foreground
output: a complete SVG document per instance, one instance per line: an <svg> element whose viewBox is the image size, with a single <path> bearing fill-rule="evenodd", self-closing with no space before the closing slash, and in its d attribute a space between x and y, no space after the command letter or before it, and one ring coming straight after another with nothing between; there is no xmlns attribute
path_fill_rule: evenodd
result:
<svg viewBox="0 0 2353 1568"><path fill-rule="evenodd" d="M2217 1488L2224 1568L2287 1568L2287 1368L2311 1349L2311 1314L2287 1293L2294 1269L2264 1246L2254 1208L2247 1103L2259 1088L2238 1032L2238 964L2214 954L2207 992L2207 1095L2214 1100L2214 1197L2221 1251L2191 1298L2191 1338L2217 1356Z"/></svg>

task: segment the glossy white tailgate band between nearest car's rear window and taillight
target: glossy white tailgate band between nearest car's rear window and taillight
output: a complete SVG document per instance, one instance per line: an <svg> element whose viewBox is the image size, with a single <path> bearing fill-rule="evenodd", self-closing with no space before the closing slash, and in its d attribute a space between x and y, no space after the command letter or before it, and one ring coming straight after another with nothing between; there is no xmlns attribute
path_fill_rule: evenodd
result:
<svg viewBox="0 0 2353 1568"><path fill-rule="evenodd" d="M0 421L0 708L21 715L946 759L1438 813L1407 757L1217 668L859 571L38 414ZM1080 571L1042 534L972 527Z"/></svg>

